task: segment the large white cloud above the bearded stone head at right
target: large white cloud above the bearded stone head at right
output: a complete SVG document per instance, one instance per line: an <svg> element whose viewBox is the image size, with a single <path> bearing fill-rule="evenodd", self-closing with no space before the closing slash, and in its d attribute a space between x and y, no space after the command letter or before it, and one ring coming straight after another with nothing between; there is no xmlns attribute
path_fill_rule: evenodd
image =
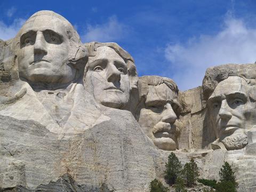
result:
<svg viewBox="0 0 256 192"><path fill-rule="evenodd" d="M201 35L189 39L186 44L167 45L165 58L172 63L170 70L175 70L172 78L180 90L191 89L202 85L208 67L225 63L254 63L256 28L246 26L242 19L229 17L216 35Z"/></svg>

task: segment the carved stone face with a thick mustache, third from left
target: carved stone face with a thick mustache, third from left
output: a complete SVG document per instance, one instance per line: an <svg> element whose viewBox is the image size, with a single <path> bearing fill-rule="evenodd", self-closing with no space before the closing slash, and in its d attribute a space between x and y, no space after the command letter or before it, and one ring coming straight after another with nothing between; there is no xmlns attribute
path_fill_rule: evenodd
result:
<svg viewBox="0 0 256 192"><path fill-rule="evenodd" d="M145 108L140 111L139 124L143 132L163 150L178 148L180 130L177 120L179 105L177 94L164 83L149 85Z"/></svg>

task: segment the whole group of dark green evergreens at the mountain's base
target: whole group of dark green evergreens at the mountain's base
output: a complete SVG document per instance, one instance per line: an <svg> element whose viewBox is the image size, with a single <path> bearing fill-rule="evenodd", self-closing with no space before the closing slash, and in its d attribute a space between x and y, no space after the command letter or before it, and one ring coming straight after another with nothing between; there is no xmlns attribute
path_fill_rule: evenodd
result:
<svg viewBox="0 0 256 192"><path fill-rule="evenodd" d="M169 185L173 185L175 192L187 192L185 183L187 187L191 187L196 184L197 180L204 185L211 187L210 190L204 189L205 192L213 191L213 188L216 192L236 192L236 177L234 171L227 162L225 162L220 169L220 181L218 183L215 180L198 179L198 167L193 158L189 163L186 163L182 169L178 157L174 153L171 153L165 167L165 180ZM169 191L169 188L165 187L161 181L158 181L157 179L151 181L150 192L167 191Z"/></svg>

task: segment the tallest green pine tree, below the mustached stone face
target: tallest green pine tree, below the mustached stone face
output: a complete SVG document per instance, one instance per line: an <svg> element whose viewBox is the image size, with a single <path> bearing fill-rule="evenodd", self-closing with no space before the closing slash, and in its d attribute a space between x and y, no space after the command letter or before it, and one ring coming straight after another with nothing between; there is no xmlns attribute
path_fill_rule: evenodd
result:
<svg viewBox="0 0 256 192"><path fill-rule="evenodd" d="M165 168L165 179L167 183L173 185L182 168L178 157L174 153L168 156L168 162L165 164Z"/></svg>

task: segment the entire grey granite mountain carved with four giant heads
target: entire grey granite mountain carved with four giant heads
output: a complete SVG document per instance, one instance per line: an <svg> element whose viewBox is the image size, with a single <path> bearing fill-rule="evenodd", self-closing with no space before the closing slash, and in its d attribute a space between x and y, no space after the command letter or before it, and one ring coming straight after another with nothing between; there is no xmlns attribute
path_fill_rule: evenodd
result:
<svg viewBox="0 0 256 192"><path fill-rule="evenodd" d="M0 190L148 191L167 156L256 190L256 64L206 70L202 86L138 77L116 43L83 44L61 15L31 15L0 41Z"/></svg>

